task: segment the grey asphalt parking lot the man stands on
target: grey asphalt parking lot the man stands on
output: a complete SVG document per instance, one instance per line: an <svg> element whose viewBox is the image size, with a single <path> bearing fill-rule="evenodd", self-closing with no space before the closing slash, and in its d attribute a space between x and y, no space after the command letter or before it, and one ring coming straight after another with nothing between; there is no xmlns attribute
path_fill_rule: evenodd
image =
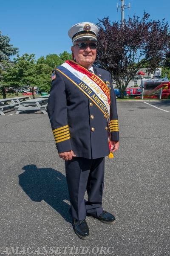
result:
<svg viewBox="0 0 170 256"><path fill-rule="evenodd" d="M113 247L107 255L170 256L170 100L117 106L120 149L114 159L106 158L103 196L103 208L115 214L116 223L87 218L88 240L71 227L64 162L48 116L0 116L2 255L10 255L3 253L6 247L87 247L84 255Z"/></svg>

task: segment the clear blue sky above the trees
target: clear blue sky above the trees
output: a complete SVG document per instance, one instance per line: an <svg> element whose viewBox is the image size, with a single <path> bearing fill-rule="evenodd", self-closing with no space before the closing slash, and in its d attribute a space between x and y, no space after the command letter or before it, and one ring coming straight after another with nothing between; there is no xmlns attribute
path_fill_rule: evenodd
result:
<svg viewBox="0 0 170 256"><path fill-rule="evenodd" d="M142 17L145 10L151 19L165 18L170 23L170 0L125 0L134 14ZM76 23L96 23L109 16L121 20L120 0L0 0L0 30L11 38L20 55L34 53L36 58L50 53L71 52L68 29Z"/></svg>

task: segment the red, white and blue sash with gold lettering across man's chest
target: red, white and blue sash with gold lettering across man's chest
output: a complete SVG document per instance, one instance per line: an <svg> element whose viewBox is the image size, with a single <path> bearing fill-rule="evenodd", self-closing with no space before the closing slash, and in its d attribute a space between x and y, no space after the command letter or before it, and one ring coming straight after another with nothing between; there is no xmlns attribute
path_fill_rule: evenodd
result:
<svg viewBox="0 0 170 256"><path fill-rule="evenodd" d="M57 71L75 84L110 119L110 91L102 79L75 61L65 61Z"/></svg>

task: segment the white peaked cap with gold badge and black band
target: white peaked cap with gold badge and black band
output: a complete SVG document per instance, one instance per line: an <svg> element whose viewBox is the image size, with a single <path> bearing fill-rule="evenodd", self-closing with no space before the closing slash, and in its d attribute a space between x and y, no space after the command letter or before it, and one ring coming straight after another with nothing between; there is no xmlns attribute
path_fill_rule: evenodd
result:
<svg viewBox="0 0 170 256"><path fill-rule="evenodd" d="M90 22L77 23L68 30L68 36L73 41L92 40L97 41L98 26Z"/></svg>

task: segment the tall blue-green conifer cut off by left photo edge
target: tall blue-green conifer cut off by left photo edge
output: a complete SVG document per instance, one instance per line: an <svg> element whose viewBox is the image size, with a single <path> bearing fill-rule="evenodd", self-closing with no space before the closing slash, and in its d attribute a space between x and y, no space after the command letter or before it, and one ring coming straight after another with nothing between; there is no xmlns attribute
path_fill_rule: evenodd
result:
<svg viewBox="0 0 170 256"><path fill-rule="evenodd" d="M10 56L17 54L17 52L18 48L10 44L10 38L2 35L0 31L0 94L3 95L4 99L6 98L6 87L3 82L3 76L11 64Z"/></svg>

